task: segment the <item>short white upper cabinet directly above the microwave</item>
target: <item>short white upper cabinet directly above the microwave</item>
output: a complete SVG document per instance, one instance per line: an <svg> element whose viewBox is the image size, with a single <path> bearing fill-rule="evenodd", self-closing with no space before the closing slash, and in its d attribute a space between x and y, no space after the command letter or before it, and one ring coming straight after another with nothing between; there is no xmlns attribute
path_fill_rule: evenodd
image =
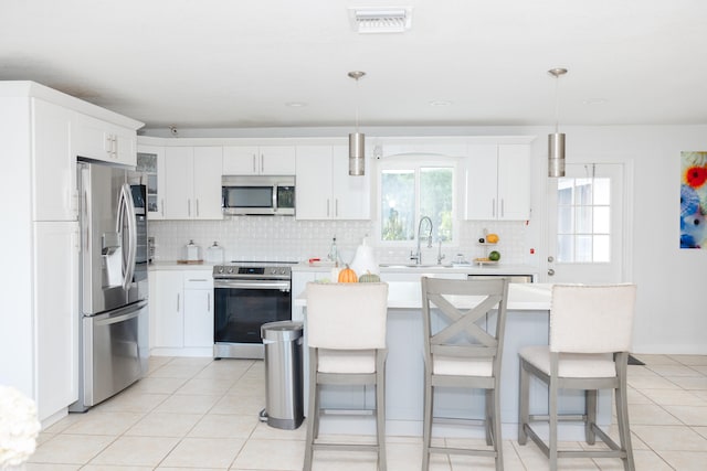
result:
<svg viewBox="0 0 707 471"><path fill-rule="evenodd" d="M294 175L294 146L226 146L224 175Z"/></svg>

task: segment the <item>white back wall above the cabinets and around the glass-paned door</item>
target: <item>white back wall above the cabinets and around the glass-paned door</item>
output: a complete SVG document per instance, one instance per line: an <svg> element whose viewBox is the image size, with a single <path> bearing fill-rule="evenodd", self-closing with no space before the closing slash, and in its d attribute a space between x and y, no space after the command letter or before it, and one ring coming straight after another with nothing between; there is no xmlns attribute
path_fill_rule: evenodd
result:
<svg viewBox="0 0 707 471"><path fill-rule="evenodd" d="M335 131L325 129L321 136L333 136ZM523 250L526 254L529 248L536 249L526 261L537 266L540 272L547 270L545 194L547 133L551 128L369 128L363 131L369 139L376 136L537 136L532 143L531 221L523 231L513 231L519 232L518 237L525 237ZM568 161L626 162L633 168L629 186L632 205L627 208L632 227L626 240L626 248L632 251L626 281L639 285L633 351L707 354L704 295L707 250L679 248L680 151L707 150L707 126L562 126L561 131L567 133ZM150 135L160 136L159 132ZM316 132L297 129L277 129L270 133L268 130L187 130L182 137L202 135L298 137L315 136ZM323 244L319 242L318 251L326 248Z"/></svg>

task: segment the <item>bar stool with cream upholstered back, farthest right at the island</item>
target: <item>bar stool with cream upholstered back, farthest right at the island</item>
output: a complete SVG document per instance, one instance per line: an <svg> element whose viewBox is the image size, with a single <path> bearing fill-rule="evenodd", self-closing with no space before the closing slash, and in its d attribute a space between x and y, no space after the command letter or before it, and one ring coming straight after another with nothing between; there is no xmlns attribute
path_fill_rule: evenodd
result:
<svg viewBox="0 0 707 471"><path fill-rule="evenodd" d="M635 464L631 449L626 400L626 370L635 308L635 285L552 287L549 345L531 345L520 350L520 407L518 442L528 437L549 458L550 470L558 469L558 458L620 458L624 470ZM530 415L530 377L548 385L548 414ZM558 413L558 389L584 390L583 415ZM615 393L619 441L612 440L597 425L599 389ZM580 421L585 440L594 445L599 437L606 447L585 450L558 450L558 422ZM532 424L549 422L546 443Z"/></svg>

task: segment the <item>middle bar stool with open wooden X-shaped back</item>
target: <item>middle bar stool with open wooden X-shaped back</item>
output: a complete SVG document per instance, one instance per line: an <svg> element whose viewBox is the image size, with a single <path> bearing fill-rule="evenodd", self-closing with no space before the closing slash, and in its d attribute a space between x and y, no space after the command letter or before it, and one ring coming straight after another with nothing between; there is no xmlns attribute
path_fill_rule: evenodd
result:
<svg viewBox="0 0 707 471"><path fill-rule="evenodd" d="M425 340L423 471L430 467L430 453L490 457L496 469L503 470L499 386L507 299L506 278L453 280L422 277ZM432 446L436 387L485 390L484 417L464 422L484 425L487 447Z"/></svg>

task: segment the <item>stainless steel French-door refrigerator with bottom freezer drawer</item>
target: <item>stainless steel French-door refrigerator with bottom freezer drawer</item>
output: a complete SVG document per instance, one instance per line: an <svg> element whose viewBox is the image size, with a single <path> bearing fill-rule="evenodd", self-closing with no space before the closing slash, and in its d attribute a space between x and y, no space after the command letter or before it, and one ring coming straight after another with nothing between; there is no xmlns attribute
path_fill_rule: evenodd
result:
<svg viewBox="0 0 707 471"><path fill-rule="evenodd" d="M148 246L144 175L95 161L77 169L81 227L78 400L89 407L147 371Z"/></svg>

